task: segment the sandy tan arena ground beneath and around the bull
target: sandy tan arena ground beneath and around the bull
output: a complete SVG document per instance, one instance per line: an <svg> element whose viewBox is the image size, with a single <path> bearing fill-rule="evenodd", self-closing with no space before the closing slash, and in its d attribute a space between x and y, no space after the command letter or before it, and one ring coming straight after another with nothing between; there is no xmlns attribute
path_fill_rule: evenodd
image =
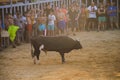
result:
<svg viewBox="0 0 120 80"><path fill-rule="evenodd" d="M65 55L61 64L57 52L44 52L40 64L33 64L30 44L0 52L0 80L120 80L120 30L80 32L81 50Z"/></svg>

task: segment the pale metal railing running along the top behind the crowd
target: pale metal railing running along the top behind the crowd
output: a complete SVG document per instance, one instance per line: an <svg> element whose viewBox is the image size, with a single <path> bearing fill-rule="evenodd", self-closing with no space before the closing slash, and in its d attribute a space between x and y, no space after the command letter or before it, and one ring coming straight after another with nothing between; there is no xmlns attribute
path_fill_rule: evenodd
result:
<svg viewBox="0 0 120 80"><path fill-rule="evenodd" d="M12 1L12 0L11 0ZM101 0L36 0L35 2L32 3L28 3L26 2L27 0L25 0L25 3L17 3L17 4L9 4L9 5L4 5L4 6L0 6L0 10L1 10L1 15L2 15L2 21L4 23L4 15L5 13L11 13L14 14L16 13L16 8L21 12L21 14L23 14L23 12L25 12L27 10L27 8L43 8L45 5L44 3L54 3L53 6L61 6L63 4L65 4L67 7L69 7L69 5L73 2L73 1L77 1L78 4L81 6L81 4L84 2L84 4L86 6L88 6L90 4L90 2L95 1L97 3L97 5L100 3ZM104 4L107 3L107 1L113 1L113 0L102 0ZM117 3L117 10L119 11L119 0L114 0ZM119 22L119 13L117 13L117 19Z"/></svg>

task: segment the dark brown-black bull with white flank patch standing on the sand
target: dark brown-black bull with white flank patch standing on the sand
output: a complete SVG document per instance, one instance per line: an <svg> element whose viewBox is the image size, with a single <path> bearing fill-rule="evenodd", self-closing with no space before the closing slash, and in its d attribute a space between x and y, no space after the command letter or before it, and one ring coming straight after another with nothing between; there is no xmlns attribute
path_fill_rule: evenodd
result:
<svg viewBox="0 0 120 80"><path fill-rule="evenodd" d="M59 52L62 58L62 63L65 62L64 53L69 53L73 49L81 49L82 45L78 40L73 40L67 36L56 36L56 37L32 37L31 47L33 46L34 51L31 48L32 57L36 57L39 60L41 50L56 51ZM36 61L34 60L34 64Z"/></svg>

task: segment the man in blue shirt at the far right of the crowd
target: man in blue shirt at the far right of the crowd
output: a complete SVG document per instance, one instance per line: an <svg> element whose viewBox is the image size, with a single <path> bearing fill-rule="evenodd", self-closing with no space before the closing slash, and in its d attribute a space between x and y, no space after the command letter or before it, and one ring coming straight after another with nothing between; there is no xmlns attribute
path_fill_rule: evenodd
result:
<svg viewBox="0 0 120 80"><path fill-rule="evenodd" d="M114 29L113 23L115 23L117 28L119 28L117 21L117 7L115 6L114 2L112 2L111 5L108 7L107 12L110 19L111 28Z"/></svg>

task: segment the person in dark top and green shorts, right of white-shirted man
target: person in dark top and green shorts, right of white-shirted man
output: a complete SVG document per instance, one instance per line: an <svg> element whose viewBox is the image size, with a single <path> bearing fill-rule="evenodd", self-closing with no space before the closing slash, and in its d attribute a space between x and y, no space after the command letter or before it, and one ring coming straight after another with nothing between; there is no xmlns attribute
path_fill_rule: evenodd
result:
<svg viewBox="0 0 120 80"><path fill-rule="evenodd" d="M106 16L105 16L106 10L103 4L100 4L100 7L98 8L98 31L100 28L105 30L105 23L106 23Z"/></svg>

